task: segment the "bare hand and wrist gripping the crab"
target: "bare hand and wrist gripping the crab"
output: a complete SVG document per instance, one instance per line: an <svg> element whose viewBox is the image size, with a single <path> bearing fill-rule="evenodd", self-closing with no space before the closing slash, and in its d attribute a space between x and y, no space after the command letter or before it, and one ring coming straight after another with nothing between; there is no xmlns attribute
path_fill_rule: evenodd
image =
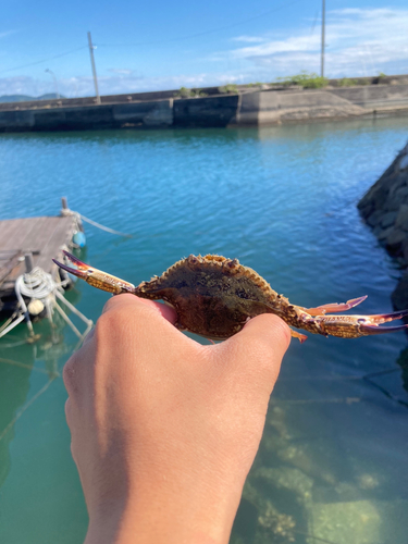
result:
<svg viewBox="0 0 408 544"><path fill-rule="evenodd" d="M202 346L119 295L64 368L86 544L224 544L289 342L276 316Z"/></svg>

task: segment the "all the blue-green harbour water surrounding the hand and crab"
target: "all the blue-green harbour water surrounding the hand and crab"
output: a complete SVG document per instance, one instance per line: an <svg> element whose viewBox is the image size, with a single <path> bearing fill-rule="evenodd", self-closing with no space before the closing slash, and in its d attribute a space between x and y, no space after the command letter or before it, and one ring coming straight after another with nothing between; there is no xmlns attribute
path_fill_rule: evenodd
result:
<svg viewBox="0 0 408 544"><path fill-rule="evenodd" d="M83 254L132 283L215 252L295 304L369 295L361 312L386 312L399 272L356 203L407 133L406 118L1 135L0 218L57 214L66 196L71 209L133 234L88 226ZM85 283L69 294L94 320L108 297ZM24 326L0 341L0 542L76 544L87 516L60 376L75 337L61 325L52 338L46 322L36 332L37 345L18 345ZM397 363L406 346L403 333L293 341L233 543L406 543L408 395Z"/></svg>

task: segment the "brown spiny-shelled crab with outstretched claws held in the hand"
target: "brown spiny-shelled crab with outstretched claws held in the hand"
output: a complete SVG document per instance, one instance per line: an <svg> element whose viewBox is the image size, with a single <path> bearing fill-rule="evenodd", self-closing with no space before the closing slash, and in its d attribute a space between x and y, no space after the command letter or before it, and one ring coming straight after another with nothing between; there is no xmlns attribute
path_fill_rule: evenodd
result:
<svg viewBox="0 0 408 544"><path fill-rule="evenodd" d="M160 277L154 276L150 282L141 282L135 287L132 283L85 264L67 251L64 254L76 268L53 260L63 270L114 295L132 293L150 300L164 300L177 312L176 326L180 330L210 339L228 338L239 332L250 318L260 313L275 313L290 327L341 338L391 333L408 326L379 326L408 316L408 310L378 316L329 314L349 310L366 300L367 296L317 308L293 305L252 269L239 264L237 259L218 255L190 255L174 263ZM292 335L300 342L307 338L294 330Z"/></svg>

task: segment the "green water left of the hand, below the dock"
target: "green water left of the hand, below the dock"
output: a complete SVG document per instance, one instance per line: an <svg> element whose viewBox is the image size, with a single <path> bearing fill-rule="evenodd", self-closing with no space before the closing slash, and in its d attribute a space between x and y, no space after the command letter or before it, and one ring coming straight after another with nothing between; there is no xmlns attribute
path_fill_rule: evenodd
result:
<svg viewBox="0 0 408 544"><path fill-rule="evenodd" d="M79 292L67 298L77 304ZM54 325L35 323L34 344L24 324L0 341L0 542L8 544L79 543L86 532L62 383L78 338L57 313Z"/></svg>

